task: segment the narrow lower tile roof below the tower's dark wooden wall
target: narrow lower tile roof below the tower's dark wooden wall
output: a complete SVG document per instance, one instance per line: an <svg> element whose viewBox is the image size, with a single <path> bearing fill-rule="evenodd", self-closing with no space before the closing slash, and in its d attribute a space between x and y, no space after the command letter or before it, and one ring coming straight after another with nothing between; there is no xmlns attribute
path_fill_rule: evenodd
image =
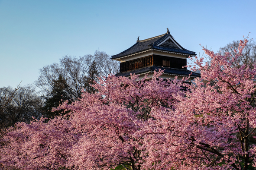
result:
<svg viewBox="0 0 256 170"><path fill-rule="evenodd" d="M140 69L135 69L132 71L127 71L127 72L120 72L117 73L116 76L130 76L130 74L145 74L147 72L154 72L158 71L159 69L164 70L164 73L166 74L171 74L174 76L191 76L191 77L200 77L201 74L196 73L196 72L191 72L187 69L174 69L174 68L165 68L161 66L148 66Z"/></svg>

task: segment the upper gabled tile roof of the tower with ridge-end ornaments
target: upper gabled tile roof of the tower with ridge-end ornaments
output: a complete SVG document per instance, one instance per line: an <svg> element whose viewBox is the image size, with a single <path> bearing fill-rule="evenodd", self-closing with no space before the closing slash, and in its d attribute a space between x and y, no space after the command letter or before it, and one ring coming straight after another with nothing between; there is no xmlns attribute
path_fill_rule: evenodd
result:
<svg viewBox="0 0 256 170"><path fill-rule="evenodd" d="M167 31L165 34L148 38L145 40L139 40L134 44L132 47L128 48L127 50L124 50L120 54L111 56L111 59L118 59L121 57L129 56L131 54L136 54L142 51L146 50L160 50L160 51L166 51L166 52L172 52L172 53L178 53L178 54L185 54L185 55L196 55L195 52L187 50L183 47L181 47L180 44L170 35L170 32Z"/></svg>

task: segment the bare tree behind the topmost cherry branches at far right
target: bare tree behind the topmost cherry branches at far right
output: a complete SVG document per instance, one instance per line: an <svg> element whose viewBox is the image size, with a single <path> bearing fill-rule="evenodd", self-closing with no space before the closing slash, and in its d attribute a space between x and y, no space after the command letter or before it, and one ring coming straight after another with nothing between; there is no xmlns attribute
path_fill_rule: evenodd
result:
<svg viewBox="0 0 256 170"><path fill-rule="evenodd" d="M220 47L219 54L224 55L225 53L230 54L230 59L235 57L234 50L239 47L239 41L233 41L227 44L225 47ZM256 43L253 39L250 39L244 48L242 55L237 58L237 62L233 63L234 67L240 67L242 64L246 64L252 68L253 63L256 61Z"/></svg>

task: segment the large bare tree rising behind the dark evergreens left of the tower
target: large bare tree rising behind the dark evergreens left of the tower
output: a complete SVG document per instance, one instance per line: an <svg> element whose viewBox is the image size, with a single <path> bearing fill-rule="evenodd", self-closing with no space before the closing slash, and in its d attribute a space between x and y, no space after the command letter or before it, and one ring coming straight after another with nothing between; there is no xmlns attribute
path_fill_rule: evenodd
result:
<svg viewBox="0 0 256 170"><path fill-rule="evenodd" d="M87 69L91 63L91 55L75 58L64 56L60 63L53 63L40 69L40 76L36 81L36 86L41 88L46 94L55 89L55 81L59 76L63 78L65 92L71 101L81 97L81 88L83 88L83 79L86 76Z"/></svg>

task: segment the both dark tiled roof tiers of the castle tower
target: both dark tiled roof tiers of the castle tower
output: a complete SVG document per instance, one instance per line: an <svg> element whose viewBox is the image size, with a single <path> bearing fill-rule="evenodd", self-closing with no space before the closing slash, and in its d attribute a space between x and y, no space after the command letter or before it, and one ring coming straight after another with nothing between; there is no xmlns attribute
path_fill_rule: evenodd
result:
<svg viewBox="0 0 256 170"><path fill-rule="evenodd" d="M124 50L120 54L113 55L112 60L118 60L120 58L128 57L130 55L136 55L139 53L146 52L148 50L156 50L162 51L167 53L174 53L188 56L195 56L195 52L187 50L181 47L180 44L172 37L167 28L167 32L162 35L158 35L156 37L148 38L145 40L137 40L136 44L132 47ZM158 54L159 55L159 54ZM157 65L157 64L156 64ZM146 66L143 68L138 68L126 72L117 73L116 76L130 76L130 74L146 74L149 72L158 71L159 69L163 70L165 74L170 74L174 76L191 76L191 77L200 77L199 73L191 72L188 69L178 69L178 68L169 68L169 67L162 67L162 66Z"/></svg>

